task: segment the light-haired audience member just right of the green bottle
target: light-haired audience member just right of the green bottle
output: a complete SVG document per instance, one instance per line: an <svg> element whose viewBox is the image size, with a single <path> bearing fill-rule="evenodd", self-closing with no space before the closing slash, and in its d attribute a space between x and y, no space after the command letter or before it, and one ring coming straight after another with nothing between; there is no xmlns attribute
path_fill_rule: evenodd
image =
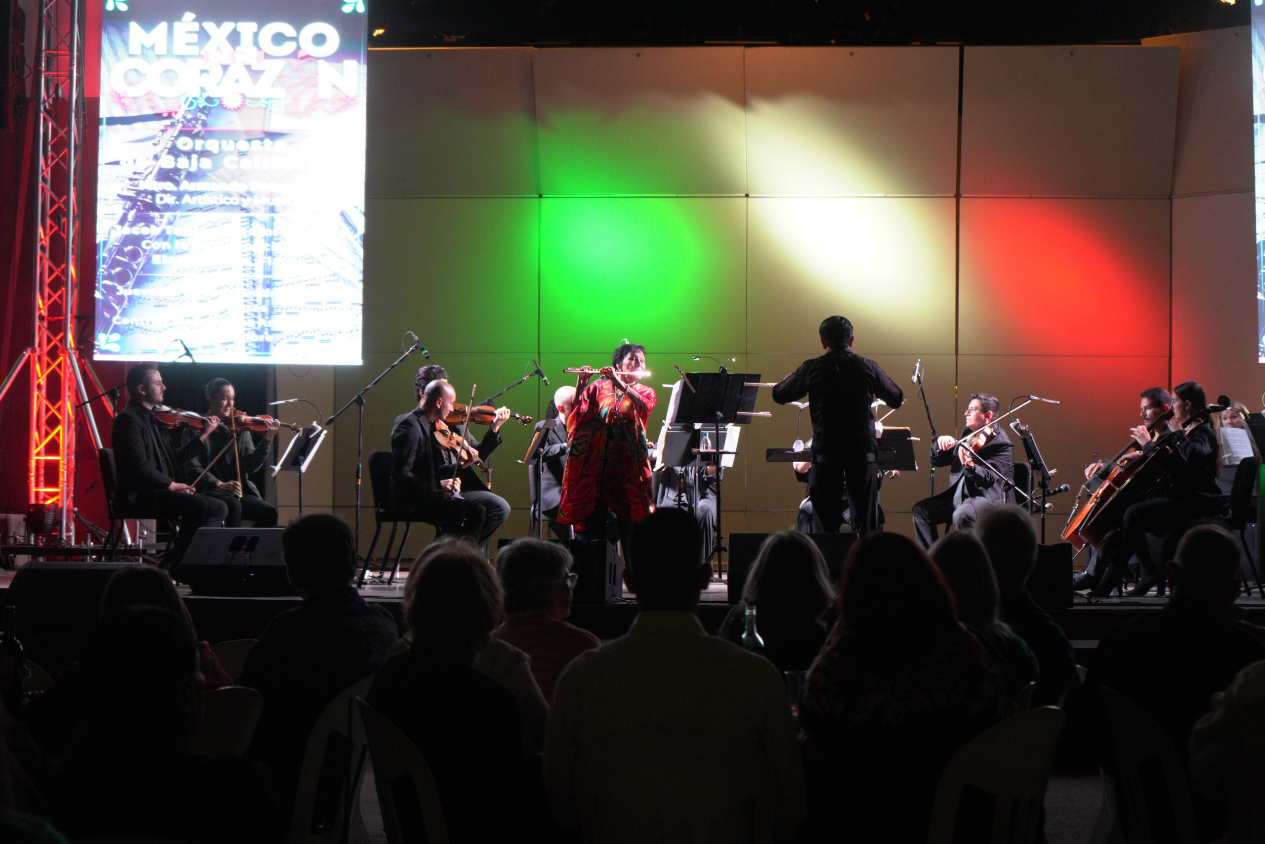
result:
<svg viewBox="0 0 1265 844"><path fill-rule="evenodd" d="M807 671L826 643L824 616L835 602L826 558L798 530L769 534L746 573L743 600L729 611L719 635L740 642L746 607L755 607L764 657L778 671Z"/></svg>

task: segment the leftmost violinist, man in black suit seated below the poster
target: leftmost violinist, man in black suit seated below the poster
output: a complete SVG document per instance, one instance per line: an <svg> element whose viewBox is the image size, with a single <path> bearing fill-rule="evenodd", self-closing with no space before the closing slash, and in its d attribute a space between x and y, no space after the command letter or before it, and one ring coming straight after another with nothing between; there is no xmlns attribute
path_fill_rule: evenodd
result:
<svg viewBox="0 0 1265 844"><path fill-rule="evenodd" d="M158 367L139 363L128 369L128 406L114 418L111 444L119 472L115 500L130 512L148 519L176 523L176 542L162 558L162 567L171 569L185 555L188 543L201 526L218 526L228 516L228 506L210 496L199 495L181 473L195 449L205 448L219 420L207 419L200 437L190 438L180 453L172 448L168 431L154 418L162 404L166 386Z"/></svg>

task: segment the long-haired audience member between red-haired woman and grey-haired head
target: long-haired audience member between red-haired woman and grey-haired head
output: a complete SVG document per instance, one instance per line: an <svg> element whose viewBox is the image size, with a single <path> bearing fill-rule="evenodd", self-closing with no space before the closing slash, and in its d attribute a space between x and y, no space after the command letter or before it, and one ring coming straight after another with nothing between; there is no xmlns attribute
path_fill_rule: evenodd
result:
<svg viewBox="0 0 1265 844"><path fill-rule="evenodd" d="M1036 682L1036 657L997 612L997 577L988 552L975 534L956 530L945 534L927 552L944 574L958 605L958 620L975 634L993 666L1002 672L1006 692L1012 697Z"/></svg>

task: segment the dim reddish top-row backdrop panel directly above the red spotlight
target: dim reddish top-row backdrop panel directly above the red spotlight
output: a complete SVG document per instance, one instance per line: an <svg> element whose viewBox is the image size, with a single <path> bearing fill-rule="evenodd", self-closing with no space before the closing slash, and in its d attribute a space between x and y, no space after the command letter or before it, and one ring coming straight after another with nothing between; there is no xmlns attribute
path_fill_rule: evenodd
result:
<svg viewBox="0 0 1265 844"><path fill-rule="evenodd" d="M968 47L961 192L1168 196L1178 51Z"/></svg>

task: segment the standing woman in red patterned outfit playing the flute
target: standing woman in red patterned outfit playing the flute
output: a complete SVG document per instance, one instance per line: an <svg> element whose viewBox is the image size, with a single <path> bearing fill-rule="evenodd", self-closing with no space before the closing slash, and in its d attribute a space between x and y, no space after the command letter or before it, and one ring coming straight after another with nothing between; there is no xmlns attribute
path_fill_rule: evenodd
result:
<svg viewBox="0 0 1265 844"><path fill-rule="evenodd" d="M601 378L589 383L591 375L579 376L558 505L559 524L573 525L587 540L607 538L607 514L614 512L625 554L632 523L654 509L645 426L658 397L638 383L644 371L645 347L622 343Z"/></svg>

